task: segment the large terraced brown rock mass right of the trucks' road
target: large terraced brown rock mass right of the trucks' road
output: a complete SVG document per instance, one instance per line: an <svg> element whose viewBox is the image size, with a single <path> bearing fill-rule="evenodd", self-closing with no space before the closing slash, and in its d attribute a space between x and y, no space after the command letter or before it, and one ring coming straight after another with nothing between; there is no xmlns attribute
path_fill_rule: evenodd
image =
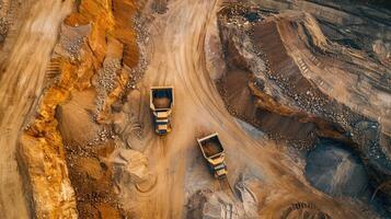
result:
<svg viewBox="0 0 391 219"><path fill-rule="evenodd" d="M220 11L228 70L219 88L226 104L233 115L297 148L308 149L319 137L350 146L391 206L389 62L331 41L313 15L297 10L233 4Z"/></svg>

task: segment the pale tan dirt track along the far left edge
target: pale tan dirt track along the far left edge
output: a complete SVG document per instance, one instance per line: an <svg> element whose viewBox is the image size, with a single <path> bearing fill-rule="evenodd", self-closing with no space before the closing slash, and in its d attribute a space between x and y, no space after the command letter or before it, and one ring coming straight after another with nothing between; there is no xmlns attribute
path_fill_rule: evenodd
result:
<svg viewBox="0 0 391 219"><path fill-rule="evenodd" d="M25 16L0 79L0 218L28 218L15 150L20 129L37 104L58 27L72 1L36 1Z"/></svg>

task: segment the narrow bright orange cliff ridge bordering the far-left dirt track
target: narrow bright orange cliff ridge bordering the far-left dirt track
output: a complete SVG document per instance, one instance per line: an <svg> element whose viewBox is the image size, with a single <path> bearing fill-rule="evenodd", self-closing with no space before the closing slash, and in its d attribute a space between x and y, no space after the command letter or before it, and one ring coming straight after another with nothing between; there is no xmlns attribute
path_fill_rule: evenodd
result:
<svg viewBox="0 0 391 219"><path fill-rule="evenodd" d="M21 136L21 162L30 180L33 211L38 218L77 218L76 197L68 178L61 135L55 119L56 106L68 95L76 68L59 61L59 82L48 89L39 104L38 115Z"/></svg>

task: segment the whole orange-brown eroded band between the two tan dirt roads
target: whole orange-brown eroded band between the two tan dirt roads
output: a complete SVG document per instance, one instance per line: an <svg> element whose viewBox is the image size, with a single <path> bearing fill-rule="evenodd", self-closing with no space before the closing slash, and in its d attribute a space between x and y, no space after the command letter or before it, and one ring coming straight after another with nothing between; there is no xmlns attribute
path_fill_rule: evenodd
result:
<svg viewBox="0 0 391 219"><path fill-rule="evenodd" d="M141 4L77 1L62 23L37 115L21 136L21 161L37 218L120 218L112 172L111 105L139 62L134 28Z"/></svg>

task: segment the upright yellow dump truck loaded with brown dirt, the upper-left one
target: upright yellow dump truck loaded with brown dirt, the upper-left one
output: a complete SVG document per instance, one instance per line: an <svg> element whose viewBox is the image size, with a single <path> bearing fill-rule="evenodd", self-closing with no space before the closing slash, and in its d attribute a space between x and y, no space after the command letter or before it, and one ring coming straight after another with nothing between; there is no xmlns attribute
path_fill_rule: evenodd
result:
<svg viewBox="0 0 391 219"><path fill-rule="evenodd" d="M154 131L158 135L166 135L171 131L173 91L172 87L152 87L150 89L150 108L154 119Z"/></svg>

